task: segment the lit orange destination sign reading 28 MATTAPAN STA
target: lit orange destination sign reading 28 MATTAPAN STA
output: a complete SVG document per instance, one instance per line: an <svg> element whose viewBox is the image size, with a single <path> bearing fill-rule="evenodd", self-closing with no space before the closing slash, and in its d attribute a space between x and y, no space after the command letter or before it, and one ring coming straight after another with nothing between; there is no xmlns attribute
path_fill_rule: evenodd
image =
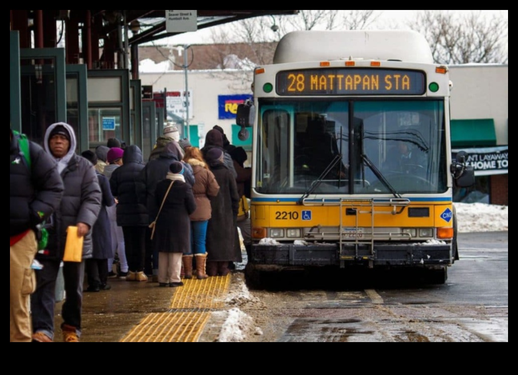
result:
<svg viewBox="0 0 518 375"><path fill-rule="evenodd" d="M325 68L277 73L278 95L422 95L420 71Z"/></svg>

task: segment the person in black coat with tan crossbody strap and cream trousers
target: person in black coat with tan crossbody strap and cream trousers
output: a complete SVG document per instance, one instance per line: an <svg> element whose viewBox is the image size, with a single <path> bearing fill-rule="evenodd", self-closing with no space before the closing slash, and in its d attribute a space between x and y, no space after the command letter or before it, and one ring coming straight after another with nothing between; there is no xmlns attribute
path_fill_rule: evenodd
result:
<svg viewBox="0 0 518 375"><path fill-rule="evenodd" d="M173 161L166 178L156 185L156 204L162 206L155 217L154 232L154 245L159 251L159 286L183 285L180 279L182 254L189 251L189 215L196 210L193 190L185 183L183 173L184 164Z"/></svg>

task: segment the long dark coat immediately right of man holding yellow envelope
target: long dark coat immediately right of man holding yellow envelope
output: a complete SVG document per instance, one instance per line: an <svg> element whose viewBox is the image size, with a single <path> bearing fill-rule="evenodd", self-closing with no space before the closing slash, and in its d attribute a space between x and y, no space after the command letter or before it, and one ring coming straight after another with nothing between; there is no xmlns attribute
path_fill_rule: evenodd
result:
<svg viewBox="0 0 518 375"><path fill-rule="evenodd" d="M114 205L115 200L111 194L108 178L97 172L97 179L99 180L100 190L103 193L103 200L101 202L99 216L92 230L92 258L108 259L113 258L114 254L111 248L111 225L106 207Z"/></svg>

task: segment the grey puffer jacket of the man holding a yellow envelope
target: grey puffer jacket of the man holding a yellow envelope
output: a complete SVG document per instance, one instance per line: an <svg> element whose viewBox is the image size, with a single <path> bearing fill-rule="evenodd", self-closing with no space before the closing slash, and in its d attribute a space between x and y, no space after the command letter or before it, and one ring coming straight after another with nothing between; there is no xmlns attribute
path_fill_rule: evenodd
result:
<svg viewBox="0 0 518 375"><path fill-rule="evenodd" d="M65 190L60 208L53 216L54 226L49 230L48 254L44 256L62 259L67 228L84 223L90 230L83 240L83 259L91 258L92 228L99 215L102 200L95 169L87 159L74 154L61 172L61 178Z"/></svg>

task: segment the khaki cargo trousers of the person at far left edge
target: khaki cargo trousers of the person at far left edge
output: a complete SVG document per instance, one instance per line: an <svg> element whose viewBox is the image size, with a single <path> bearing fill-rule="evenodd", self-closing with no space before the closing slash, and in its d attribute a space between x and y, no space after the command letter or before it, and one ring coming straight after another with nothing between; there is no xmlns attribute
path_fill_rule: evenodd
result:
<svg viewBox="0 0 518 375"><path fill-rule="evenodd" d="M32 230L16 244L10 246L10 342L31 342L32 340L29 298L36 289L36 276L31 265L37 251L38 243Z"/></svg>

